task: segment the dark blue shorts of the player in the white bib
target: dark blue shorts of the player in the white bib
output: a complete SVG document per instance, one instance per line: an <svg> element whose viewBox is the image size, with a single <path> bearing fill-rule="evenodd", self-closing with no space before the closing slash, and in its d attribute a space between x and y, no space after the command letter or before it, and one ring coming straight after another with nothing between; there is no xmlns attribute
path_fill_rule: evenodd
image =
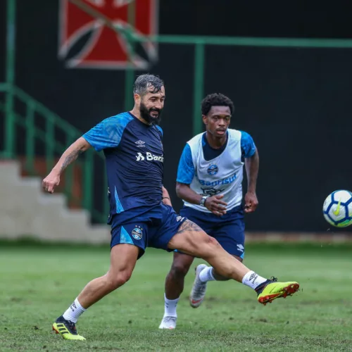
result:
<svg viewBox="0 0 352 352"><path fill-rule="evenodd" d="M225 215L217 216L184 206L180 215L193 221L214 237L227 253L244 258L244 210L237 206Z"/></svg>

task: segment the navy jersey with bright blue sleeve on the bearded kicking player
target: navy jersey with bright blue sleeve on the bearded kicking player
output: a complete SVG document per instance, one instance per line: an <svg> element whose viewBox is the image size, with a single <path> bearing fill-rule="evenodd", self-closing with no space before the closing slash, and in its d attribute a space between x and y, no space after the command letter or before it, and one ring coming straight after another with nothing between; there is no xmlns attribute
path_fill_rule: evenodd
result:
<svg viewBox="0 0 352 352"><path fill-rule="evenodd" d="M131 113L106 118L82 137L103 150L108 176L109 221L114 214L134 215L162 200L163 130Z"/></svg>

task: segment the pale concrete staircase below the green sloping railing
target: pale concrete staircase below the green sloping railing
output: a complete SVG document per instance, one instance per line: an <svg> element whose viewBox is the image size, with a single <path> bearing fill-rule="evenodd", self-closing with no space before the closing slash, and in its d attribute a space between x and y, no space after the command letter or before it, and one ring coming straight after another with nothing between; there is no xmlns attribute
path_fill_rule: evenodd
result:
<svg viewBox="0 0 352 352"><path fill-rule="evenodd" d="M20 163L0 161L0 238L104 244L108 225L90 224L87 210L70 210L63 194L45 194L39 177L20 177Z"/></svg>

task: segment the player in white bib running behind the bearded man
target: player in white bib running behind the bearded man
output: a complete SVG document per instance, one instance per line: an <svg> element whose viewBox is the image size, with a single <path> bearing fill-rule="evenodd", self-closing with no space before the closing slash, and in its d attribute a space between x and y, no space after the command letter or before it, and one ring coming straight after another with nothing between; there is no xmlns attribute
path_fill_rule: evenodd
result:
<svg viewBox="0 0 352 352"><path fill-rule="evenodd" d="M176 192L184 201L180 215L199 225L218 240L234 258L244 258L244 213L258 206L256 180L259 156L252 137L229 127L234 104L225 95L209 94L201 103L206 132L187 142L177 170ZM242 206L243 167L248 187ZM177 302L194 257L175 251L165 281L165 313L160 329L175 329ZM189 300L201 305L209 281L225 281L212 267L201 264Z"/></svg>

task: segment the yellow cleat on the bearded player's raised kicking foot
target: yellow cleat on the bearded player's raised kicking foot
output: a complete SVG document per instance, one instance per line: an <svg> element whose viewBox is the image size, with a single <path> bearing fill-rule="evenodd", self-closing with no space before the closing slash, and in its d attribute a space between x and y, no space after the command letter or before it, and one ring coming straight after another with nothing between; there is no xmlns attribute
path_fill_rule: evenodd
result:
<svg viewBox="0 0 352 352"><path fill-rule="evenodd" d="M292 296L298 289L298 282L277 282L277 278L272 277L256 289L258 302L265 306L266 303L272 303L276 298Z"/></svg>

